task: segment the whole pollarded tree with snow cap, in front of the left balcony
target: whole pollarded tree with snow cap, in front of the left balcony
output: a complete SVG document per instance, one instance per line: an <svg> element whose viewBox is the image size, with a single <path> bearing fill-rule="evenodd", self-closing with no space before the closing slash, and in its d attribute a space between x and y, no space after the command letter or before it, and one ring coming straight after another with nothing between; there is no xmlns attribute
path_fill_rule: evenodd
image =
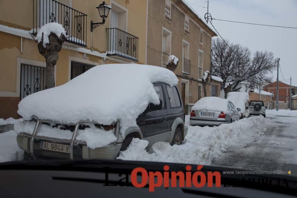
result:
<svg viewBox="0 0 297 198"><path fill-rule="evenodd" d="M47 23L40 28L37 36L39 53L45 57L46 63L46 88L55 87L54 67L59 59L63 42L66 40L64 27L59 23Z"/></svg>

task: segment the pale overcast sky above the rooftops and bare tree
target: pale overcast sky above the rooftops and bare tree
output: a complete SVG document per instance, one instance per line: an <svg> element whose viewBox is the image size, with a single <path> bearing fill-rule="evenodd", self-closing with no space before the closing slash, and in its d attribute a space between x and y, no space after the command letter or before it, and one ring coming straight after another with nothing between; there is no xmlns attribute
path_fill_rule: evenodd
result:
<svg viewBox="0 0 297 198"><path fill-rule="evenodd" d="M186 0L203 17L206 8L198 7L206 0ZM196 5L193 5L196 4ZM207 7L207 3L203 5ZM209 0L209 13L213 18L297 27L297 0ZM212 24L224 39L256 50L272 51L280 58L285 79L292 77L297 86L297 29L256 26L213 20ZM191 28L191 27L189 27ZM277 70L274 72L276 80ZM283 80L280 72L279 79ZM285 82L285 81L283 81ZM285 82L290 84L290 82Z"/></svg>

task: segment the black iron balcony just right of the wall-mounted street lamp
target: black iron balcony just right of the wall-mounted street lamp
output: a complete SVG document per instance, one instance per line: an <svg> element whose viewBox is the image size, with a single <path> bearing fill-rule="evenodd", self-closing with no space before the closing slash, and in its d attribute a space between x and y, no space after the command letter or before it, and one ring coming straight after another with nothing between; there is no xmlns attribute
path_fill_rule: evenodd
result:
<svg viewBox="0 0 297 198"><path fill-rule="evenodd" d="M138 37L119 28L107 28L107 55L138 61Z"/></svg>

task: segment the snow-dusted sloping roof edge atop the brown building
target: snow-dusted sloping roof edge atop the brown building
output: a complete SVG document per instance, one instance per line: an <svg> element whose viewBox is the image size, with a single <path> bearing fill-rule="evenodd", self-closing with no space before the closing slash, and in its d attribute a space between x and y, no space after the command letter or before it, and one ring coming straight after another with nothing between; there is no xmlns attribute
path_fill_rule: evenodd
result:
<svg viewBox="0 0 297 198"><path fill-rule="evenodd" d="M205 22L204 17L201 17L186 0L173 0L173 3L177 4L181 9L183 9L183 11L186 12L193 21L201 25L204 30L208 30L207 32L212 37L217 36L214 29Z"/></svg>

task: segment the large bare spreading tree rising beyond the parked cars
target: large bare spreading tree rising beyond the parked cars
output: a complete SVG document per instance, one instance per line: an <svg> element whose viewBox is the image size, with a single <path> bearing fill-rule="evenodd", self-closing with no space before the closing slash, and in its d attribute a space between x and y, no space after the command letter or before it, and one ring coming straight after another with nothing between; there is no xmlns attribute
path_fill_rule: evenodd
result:
<svg viewBox="0 0 297 198"><path fill-rule="evenodd" d="M228 47L230 46L230 47ZM222 39L214 39L212 42L212 62L219 68L214 75L222 78L222 89L225 98L230 91L241 88L241 82L252 85L264 85L271 82L271 73L277 64L272 52L256 51L253 56L247 47L239 44L226 43Z"/></svg>

